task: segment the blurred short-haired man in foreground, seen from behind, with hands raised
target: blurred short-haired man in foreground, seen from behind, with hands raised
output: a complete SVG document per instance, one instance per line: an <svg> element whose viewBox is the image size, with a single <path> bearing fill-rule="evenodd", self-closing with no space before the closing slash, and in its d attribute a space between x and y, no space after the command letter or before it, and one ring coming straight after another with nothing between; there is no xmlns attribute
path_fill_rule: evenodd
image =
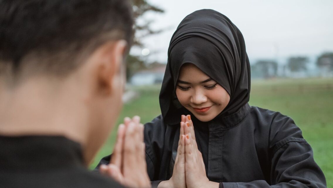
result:
<svg viewBox="0 0 333 188"><path fill-rule="evenodd" d="M0 187L150 187L138 117L104 167L120 184L86 169L122 107L129 1L0 0L0 12Z"/></svg>

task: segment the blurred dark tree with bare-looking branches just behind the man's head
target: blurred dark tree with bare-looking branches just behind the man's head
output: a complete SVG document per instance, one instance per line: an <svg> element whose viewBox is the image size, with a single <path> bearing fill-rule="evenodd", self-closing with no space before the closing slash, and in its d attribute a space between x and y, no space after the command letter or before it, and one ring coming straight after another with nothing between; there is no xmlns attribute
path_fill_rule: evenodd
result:
<svg viewBox="0 0 333 188"><path fill-rule="evenodd" d="M135 17L135 25L134 25L135 37L134 37L133 46L143 48L144 44L142 43L141 39L150 36L152 34L157 34L162 32L162 29L161 30L151 29L151 23L153 23L153 20L145 20L143 16L147 12L163 13L164 10L149 4L146 0L132 0L132 3L133 3L133 11ZM136 71L143 69L145 67L146 67L145 61L142 59L142 56L129 54L127 57L127 68L126 68L127 79L129 80L129 78L131 78Z"/></svg>

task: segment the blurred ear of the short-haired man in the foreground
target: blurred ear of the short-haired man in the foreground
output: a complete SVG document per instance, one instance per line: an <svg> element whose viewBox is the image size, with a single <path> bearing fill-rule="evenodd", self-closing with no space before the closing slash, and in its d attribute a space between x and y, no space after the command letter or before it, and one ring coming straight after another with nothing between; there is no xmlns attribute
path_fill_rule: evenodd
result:
<svg viewBox="0 0 333 188"><path fill-rule="evenodd" d="M98 89L104 94L110 95L112 93L113 83L117 81L114 79L117 79L116 76L121 74L126 49L127 42L125 40L108 42L99 48Z"/></svg>

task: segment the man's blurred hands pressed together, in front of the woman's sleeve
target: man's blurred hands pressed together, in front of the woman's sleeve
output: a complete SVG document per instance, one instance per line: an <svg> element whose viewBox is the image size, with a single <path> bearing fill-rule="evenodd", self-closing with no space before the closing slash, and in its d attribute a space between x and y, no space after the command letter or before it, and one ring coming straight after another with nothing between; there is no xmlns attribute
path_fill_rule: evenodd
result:
<svg viewBox="0 0 333 188"><path fill-rule="evenodd" d="M118 128L110 164L101 165L100 172L127 187L150 188L143 131L140 117L125 118Z"/></svg>

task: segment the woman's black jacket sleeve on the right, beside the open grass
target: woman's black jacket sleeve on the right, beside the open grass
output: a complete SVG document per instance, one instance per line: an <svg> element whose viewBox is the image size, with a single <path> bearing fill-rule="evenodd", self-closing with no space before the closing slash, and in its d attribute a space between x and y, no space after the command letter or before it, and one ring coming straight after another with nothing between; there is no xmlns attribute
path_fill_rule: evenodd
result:
<svg viewBox="0 0 333 188"><path fill-rule="evenodd" d="M326 187L325 176L314 161L311 146L303 139L301 130L291 118L274 114L269 136L271 183L265 180L222 183L224 188Z"/></svg>

